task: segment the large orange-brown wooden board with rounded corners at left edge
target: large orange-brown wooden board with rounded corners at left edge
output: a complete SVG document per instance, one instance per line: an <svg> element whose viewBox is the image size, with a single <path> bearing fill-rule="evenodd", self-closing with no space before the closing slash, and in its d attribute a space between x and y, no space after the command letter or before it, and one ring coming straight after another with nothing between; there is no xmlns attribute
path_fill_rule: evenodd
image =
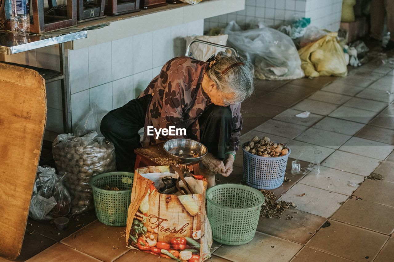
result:
<svg viewBox="0 0 394 262"><path fill-rule="evenodd" d="M0 63L0 256L19 256L46 123L45 80Z"/></svg>

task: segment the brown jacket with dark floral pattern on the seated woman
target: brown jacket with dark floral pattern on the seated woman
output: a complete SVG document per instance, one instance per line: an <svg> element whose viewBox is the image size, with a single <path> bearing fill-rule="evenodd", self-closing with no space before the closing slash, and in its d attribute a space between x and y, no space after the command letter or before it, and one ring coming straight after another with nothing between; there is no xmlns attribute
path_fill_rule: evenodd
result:
<svg viewBox="0 0 394 262"><path fill-rule="evenodd" d="M164 64L157 75L139 97L152 95L151 103L147 109L146 126L154 128L188 129L191 125L190 139L199 141L200 128L198 117L204 109L211 104L208 95L204 95L201 88L203 76L208 63L190 57L175 57ZM232 135L228 144L228 151L234 154L238 150L240 131L242 129L241 104L230 106L232 113ZM182 137L182 136L178 136ZM144 146L162 143L169 138L177 136L147 136L144 131Z"/></svg>

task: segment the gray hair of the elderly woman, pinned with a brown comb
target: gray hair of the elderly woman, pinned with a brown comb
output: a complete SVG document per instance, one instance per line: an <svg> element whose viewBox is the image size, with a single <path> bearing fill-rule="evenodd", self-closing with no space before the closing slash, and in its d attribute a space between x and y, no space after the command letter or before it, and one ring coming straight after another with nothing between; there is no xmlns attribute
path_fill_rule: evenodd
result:
<svg viewBox="0 0 394 262"><path fill-rule="evenodd" d="M217 62L206 74L215 82L217 90L234 93L229 101L232 104L240 103L250 97L254 90L253 65L242 57L227 55L223 51L217 53L215 58Z"/></svg>

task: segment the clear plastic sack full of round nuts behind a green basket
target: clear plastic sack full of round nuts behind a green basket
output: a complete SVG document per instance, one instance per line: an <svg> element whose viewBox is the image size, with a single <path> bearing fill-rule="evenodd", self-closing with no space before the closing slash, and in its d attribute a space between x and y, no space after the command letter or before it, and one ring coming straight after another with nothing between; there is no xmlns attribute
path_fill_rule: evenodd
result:
<svg viewBox="0 0 394 262"><path fill-rule="evenodd" d="M60 134L52 143L52 154L59 175L71 195L71 213L80 214L94 208L91 176L116 170L115 148L96 131L85 136Z"/></svg>

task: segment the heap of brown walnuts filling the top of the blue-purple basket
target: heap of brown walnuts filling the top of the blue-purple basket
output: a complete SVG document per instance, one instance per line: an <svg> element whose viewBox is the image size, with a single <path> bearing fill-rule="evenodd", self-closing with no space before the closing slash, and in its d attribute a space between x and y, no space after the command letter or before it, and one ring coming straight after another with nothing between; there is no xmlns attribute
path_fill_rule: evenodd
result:
<svg viewBox="0 0 394 262"><path fill-rule="evenodd" d="M253 137L251 141L243 144L243 149L251 154L264 156L266 158L285 156L289 153L286 145L273 142L266 136L262 139L257 136Z"/></svg>

